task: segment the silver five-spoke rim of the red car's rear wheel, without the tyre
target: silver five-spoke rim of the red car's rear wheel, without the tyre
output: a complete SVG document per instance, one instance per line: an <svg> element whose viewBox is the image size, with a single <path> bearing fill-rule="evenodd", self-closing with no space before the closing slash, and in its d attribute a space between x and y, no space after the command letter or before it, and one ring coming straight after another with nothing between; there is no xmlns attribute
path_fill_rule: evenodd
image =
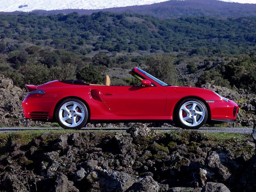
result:
<svg viewBox="0 0 256 192"><path fill-rule="evenodd" d="M67 127L76 127L84 120L85 110L75 101L64 103L59 110L60 122Z"/></svg>

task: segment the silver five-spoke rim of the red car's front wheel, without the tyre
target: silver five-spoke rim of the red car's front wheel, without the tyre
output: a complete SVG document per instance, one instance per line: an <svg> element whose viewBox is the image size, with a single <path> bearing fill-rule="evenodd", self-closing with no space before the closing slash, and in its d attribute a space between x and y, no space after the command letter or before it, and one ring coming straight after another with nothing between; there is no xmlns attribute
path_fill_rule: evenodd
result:
<svg viewBox="0 0 256 192"><path fill-rule="evenodd" d="M180 121L188 127L195 127L204 121L204 107L196 101L185 102L179 110Z"/></svg>

